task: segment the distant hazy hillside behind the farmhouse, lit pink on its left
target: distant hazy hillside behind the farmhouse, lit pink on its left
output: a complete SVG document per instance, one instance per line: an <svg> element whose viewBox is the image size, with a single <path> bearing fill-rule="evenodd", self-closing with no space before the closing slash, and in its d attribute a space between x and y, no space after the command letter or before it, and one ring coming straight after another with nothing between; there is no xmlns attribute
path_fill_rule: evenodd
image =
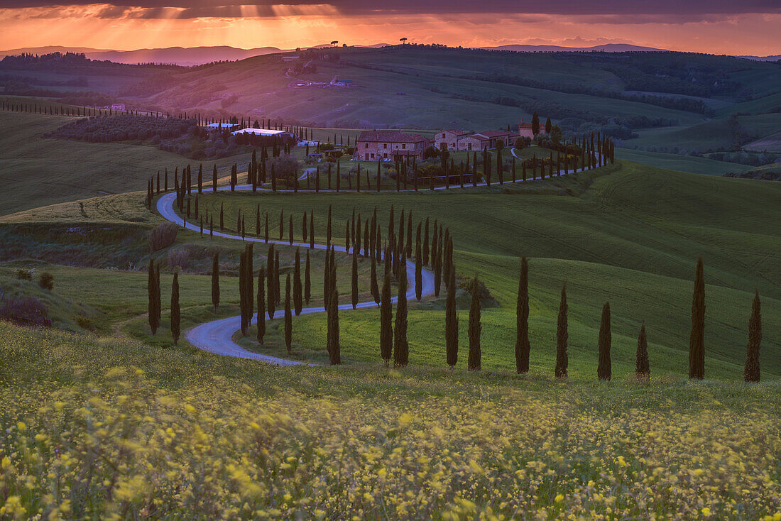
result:
<svg viewBox="0 0 781 521"><path fill-rule="evenodd" d="M290 65L280 62L278 55L177 73L168 83L152 88L148 102L334 126L504 127L508 122L529 120L530 110L524 107L533 103L553 103L563 108L561 114L553 115L554 119L568 117L565 109L570 108L572 116L577 116L576 110L583 110L605 117L665 118L682 125L705 120L696 112L632 98L638 92L626 88L627 79L632 77L626 73L632 66L650 66L634 63L651 60L650 56L501 53L415 46L344 48L338 54L339 61L315 59L316 72L295 73L293 77L286 76ZM304 62L308 59L305 57ZM779 71L772 64L665 53L656 66L664 68L676 60L682 63L682 70L690 70L692 78L686 80L689 84L697 80L712 83L710 76L697 75L707 76L712 73L712 69L703 72L708 67L720 67L726 72L719 79L743 86L745 93L762 97L777 92ZM296 80L327 83L334 76L353 80L355 87L291 87ZM663 77L656 77L659 88L665 88ZM683 88L686 81L669 80L668 92L672 94L664 95L675 98L674 87ZM658 96L660 92L645 94ZM713 101L723 107L744 100L733 93Z"/></svg>

